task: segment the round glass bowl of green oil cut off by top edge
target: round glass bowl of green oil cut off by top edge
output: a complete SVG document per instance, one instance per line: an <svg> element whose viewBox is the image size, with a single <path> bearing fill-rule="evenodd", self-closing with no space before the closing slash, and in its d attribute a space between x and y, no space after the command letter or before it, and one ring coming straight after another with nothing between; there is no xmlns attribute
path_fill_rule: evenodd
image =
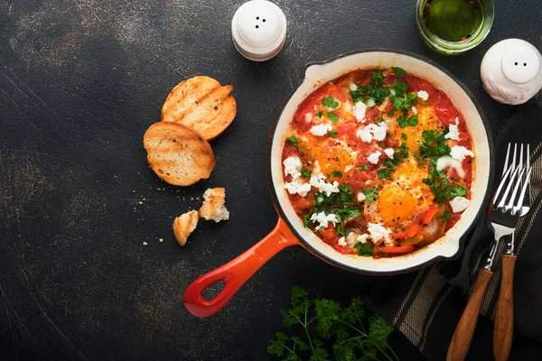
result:
<svg viewBox="0 0 542 361"><path fill-rule="evenodd" d="M493 13L492 0L417 0L416 25L430 48L454 55L485 39Z"/></svg>

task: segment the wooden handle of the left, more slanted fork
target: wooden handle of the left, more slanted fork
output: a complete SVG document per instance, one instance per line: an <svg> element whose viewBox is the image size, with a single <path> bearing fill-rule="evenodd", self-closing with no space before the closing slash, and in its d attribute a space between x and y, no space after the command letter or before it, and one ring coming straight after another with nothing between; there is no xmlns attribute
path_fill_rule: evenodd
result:
<svg viewBox="0 0 542 361"><path fill-rule="evenodd" d="M467 307L463 310L463 315L459 319L455 332L453 332L452 342L448 347L447 361L463 361L467 356L469 347L471 347L472 335L474 335L474 329L476 329L476 322L478 321L481 299L492 274L491 271L485 268L478 269L478 277L476 283L474 283L471 298L467 303Z"/></svg>

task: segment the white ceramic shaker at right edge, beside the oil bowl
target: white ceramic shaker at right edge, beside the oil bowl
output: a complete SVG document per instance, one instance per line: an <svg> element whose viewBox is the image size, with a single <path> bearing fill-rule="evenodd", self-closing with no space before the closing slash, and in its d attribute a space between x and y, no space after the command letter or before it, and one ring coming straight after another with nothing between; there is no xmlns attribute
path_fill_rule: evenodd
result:
<svg viewBox="0 0 542 361"><path fill-rule="evenodd" d="M542 88L542 56L520 39L497 42L481 60L483 88L500 103L518 105Z"/></svg>

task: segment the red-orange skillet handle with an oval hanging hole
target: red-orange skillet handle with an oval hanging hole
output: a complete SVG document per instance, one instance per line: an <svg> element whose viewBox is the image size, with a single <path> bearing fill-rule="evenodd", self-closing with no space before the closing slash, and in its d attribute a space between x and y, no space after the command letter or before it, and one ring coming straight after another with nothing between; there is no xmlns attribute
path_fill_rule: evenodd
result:
<svg viewBox="0 0 542 361"><path fill-rule="evenodd" d="M192 282L184 292L186 309L196 317L209 317L221 310L243 283L285 247L301 245L285 221L278 218L276 227L256 245L210 273ZM203 299L202 292L211 284L224 281L224 289L212 300Z"/></svg>

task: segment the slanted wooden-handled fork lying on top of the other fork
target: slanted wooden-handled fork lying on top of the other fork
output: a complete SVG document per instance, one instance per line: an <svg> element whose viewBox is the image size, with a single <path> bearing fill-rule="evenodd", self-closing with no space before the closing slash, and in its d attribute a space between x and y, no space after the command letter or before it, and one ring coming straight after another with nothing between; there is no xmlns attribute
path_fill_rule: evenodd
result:
<svg viewBox="0 0 542 361"><path fill-rule="evenodd" d="M507 167L508 158L507 156L505 167ZM512 234L518 225L520 208L528 189L531 168L527 165L524 166L522 162L519 162L518 166L514 165L514 167L507 168L491 201L489 217L486 218L486 224L491 228L494 235L490 255L486 263L479 268L471 298L453 332L452 342L448 347L446 357L448 361L462 361L467 355L478 321L481 300L493 274L491 265L497 252L499 240L502 236ZM521 179L524 174L527 174L527 181L522 183Z"/></svg>

